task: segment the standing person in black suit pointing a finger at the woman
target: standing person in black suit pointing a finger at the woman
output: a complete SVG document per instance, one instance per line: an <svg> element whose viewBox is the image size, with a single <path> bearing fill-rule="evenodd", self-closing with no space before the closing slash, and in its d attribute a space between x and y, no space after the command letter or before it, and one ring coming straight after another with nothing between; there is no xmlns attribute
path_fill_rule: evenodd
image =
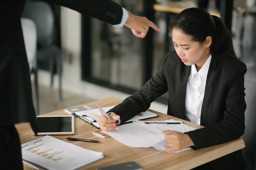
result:
<svg viewBox="0 0 256 170"><path fill-rule="evenodd" d="M160 29L146 17L132 15L111 0L45 0L70 7L112 25L125 25L137 37L148 28ZM25 0L0 0L0 166L3 170L23 169L20 139L14 124L29 122L37 132L32 102L29 65L20 17Z"/></svg>

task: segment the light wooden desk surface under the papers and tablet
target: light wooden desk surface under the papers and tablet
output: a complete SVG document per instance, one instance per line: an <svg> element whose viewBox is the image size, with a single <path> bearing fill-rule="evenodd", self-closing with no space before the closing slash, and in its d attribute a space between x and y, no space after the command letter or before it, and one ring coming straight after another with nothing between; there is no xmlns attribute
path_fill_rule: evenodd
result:
<svg viewBox="0 0 256 170"><path fill-rule="evenodd" d="M94 105L100 104L102 107L117 105L121 102L121 100L117 98L107 98L103 100L98 100L95 102L86 103L86 105ZM152 110L150 110L152 111ZM150 118L148 120L167 120L167 119L175 119L181 120L179 118L175 118L173 116L169 116L163 113L159 113L157 111L152 111L157 113L159 117ZM65 115L64 109L59 111L54 111L51 113L47 113L47 115ZM203 128L203 126L193 124L191 122L182 120L182 123L192 126L196 129ZM16 129L20 136L21 143L25 143L31 141L33 139L37 139L38 137L32 135L32 130L29 126L29 123L20 123L16 125ZM117 140L109 137L106 139L102 139L100 137L92 135L92 131L97 130L94 126L84 122L80 118L75 118L75 134L74 135L55 135L54 137L61 139L66 142L70 142L81 146L86 149L95 150L99 152L103 152L105 158L91 163L87 166L81 168L81 170L95 170L99 166L109 166L117 163L124 163L128 161L136 161L140 166L143 167L144 170L148 169L160 169L160 170L188 170L194 167L197 167L201 164L207 163L229 153L232 153L236 150L245 147L243 139L236 139L234 141L220 144L216 146L211 146L208 148L202 148L199 150L185 150L180 153L167 153L166 151L155 150L154 148L131 148L126 145L121 144ZM76 137L76 138L84 138L84 139L92 139L101 141L100 144L90 143L90 142L79 142L79 141L68 141L66 137ZM30 166L31 163L26 163L24 161L24 169L25 170L34 170L36 169L36 165L34 167ZM43 169L38 167L38 169Z"/></svg>

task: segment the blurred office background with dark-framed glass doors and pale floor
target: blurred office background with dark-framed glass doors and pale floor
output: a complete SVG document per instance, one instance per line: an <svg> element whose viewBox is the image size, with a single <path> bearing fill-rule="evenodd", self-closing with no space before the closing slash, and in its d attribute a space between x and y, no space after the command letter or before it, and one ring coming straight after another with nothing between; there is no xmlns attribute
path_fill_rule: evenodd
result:
<svg viewBox="0 0 256 170"><path fill-rule="evenodd" d="M135 37L127 27L116 28L88 18L65 7L55 11L56 42L62 49L62 92L58 99L58 75L50 87L50 74L38 70L39 114L80 105L108 97L125 99L141 88L161 67L162 59L173 50L168 24L174 13L155 11L154 4L171 0L115 0L135 15L147 16L161 28L150 28L144 39ZM225 0L225 2L231 0ZM184 4L197 0L178 1ZM217 3L216 3L217 2ZM245 79L256 82L256 14L255 0L234 0L230 30L238 56L247 65ZM204 8L220 13L220 1L209 0ZM33 82L33 75L31 75ZM32 86L33 87L33 86ZM150 109L166 113L165 94Z"/></svg>

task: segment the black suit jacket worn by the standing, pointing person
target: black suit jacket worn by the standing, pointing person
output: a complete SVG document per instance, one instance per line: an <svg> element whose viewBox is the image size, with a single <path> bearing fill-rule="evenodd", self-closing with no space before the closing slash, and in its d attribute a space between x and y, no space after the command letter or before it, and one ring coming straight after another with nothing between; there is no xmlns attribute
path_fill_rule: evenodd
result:
<svg viewBox="0 0 256 170"><path fill-rule="evenodd" d="M119 24L120 5L111 0L45 0L110 24ZM30 122L36 131L29 65L20 17L25 0L0 0L0 126Z"/></svg>

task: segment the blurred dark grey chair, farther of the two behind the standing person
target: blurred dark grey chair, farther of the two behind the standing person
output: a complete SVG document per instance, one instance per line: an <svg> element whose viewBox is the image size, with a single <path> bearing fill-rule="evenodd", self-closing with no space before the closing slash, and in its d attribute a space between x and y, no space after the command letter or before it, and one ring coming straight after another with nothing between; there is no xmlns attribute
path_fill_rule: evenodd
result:
<svg viewBox="0 0 256 170"><path fill-rule="evenodd" d="M28 1L22 17L33 20L37 28L37 60L48 63L51 72L51 86L53 85L54 63L58 73L59 100L62 100L61 91L61 49L53 42L54 15L49 4L40 1Z"/></svg>

